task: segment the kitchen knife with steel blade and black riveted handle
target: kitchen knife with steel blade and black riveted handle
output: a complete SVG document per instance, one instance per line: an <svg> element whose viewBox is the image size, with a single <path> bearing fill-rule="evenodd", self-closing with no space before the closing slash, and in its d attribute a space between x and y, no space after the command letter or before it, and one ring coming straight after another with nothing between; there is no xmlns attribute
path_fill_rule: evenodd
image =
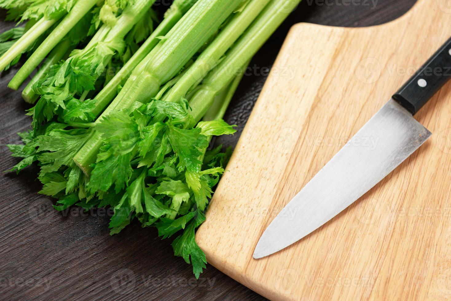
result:
<svg viewBox="0 0 451 301"><path fill-rule="evenodd" d="M281 210L253 258L280 251L327 223L417 150L431 132L413 115L450 76L451 38Z"/></svg>

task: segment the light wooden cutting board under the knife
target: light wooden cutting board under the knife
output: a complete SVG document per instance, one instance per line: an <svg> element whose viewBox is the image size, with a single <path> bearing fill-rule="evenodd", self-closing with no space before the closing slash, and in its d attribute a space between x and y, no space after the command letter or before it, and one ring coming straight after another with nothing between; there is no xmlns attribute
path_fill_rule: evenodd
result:
<svg viewBox="0 0 451 301"><path fill-rule="evenodd" d="M272 300L451 300L451 83L415 115L433 136L414 155L304 239L252 258L276 214L450 36L447 0L381 26L292 27L196 234L207 261Z"/></svg>

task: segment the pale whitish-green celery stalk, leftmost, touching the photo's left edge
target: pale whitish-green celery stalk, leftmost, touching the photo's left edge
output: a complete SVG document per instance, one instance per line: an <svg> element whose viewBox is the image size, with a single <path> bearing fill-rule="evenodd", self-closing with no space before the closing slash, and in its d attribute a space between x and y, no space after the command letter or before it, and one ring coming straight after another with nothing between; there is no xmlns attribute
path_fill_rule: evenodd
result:
<svg viewBox="0 0 451 301"><path fill-rule="evenodd" d="M5 69L18 55L23 53L47 29L56 23L62 14L53 19L41 18L23 34L0 58L0 70Z"/></svg>

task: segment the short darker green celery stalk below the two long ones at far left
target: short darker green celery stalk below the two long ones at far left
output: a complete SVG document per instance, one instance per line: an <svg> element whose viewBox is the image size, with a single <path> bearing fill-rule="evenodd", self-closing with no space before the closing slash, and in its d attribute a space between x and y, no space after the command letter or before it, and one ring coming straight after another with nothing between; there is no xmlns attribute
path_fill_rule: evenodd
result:
<svg viewBox="0 0 451 301"><path fill-rule="evenodd" d="M74 46L71 45L72 42L69 39L64 39L60 42L48 55L46 61L41 65L39 71L32 78L30 82L28 82L25 89L22 91L22 98L28 102L29 104L34 103L38 99L38 95L33 91L33 85L39 81L44 75L49 71L51 66L58 63L61 59L69 55L69 52L74 49Z"/></svg>

